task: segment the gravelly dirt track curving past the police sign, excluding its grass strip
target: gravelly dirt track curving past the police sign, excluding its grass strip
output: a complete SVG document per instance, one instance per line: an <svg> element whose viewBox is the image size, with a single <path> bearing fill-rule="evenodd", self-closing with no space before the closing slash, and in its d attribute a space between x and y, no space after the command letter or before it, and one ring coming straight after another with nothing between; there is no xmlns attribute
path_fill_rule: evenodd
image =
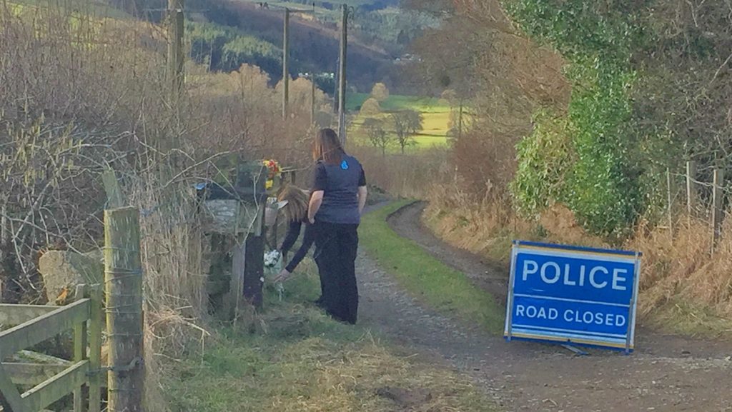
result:
<svg viewBox="0 0 732 412"><path fill-rule="evenodd" d="M455 250L422 227L416 203L389 219L401 236L504 300L507 268ZM732 411L732 345L665 336L642 326L636 352L504 342L423 307L373 259L359 256L362 323L466 372L507 411Z"/></svg>

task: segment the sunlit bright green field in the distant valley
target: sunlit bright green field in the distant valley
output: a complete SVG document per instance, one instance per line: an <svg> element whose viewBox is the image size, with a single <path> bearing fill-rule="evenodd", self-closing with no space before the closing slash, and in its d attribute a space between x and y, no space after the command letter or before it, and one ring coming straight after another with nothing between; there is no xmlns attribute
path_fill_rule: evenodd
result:
<svg viewBox="0 0 732 412"><path fill-rule="evenodd" d="M346 97L346 110L353 113L354 119L348 128L348 134L361 141L363 144L369 144L367 137L361 130L361 126L366 116L361 116L359 109L363 102L369 98L367 93L348 94ZM414 137L415 149L428 149L434 146L447 146L447 135L449 132L450 107L447 102L436 97L420 97L420 96L389 96L384 102L381 102L382 114L373 116L378 119L389 120L389 113L395 111L403 111L411 109L419 111L424 116L424 124L422 130ZM397 151L397 146L392 146L391 151Z"/></svg>

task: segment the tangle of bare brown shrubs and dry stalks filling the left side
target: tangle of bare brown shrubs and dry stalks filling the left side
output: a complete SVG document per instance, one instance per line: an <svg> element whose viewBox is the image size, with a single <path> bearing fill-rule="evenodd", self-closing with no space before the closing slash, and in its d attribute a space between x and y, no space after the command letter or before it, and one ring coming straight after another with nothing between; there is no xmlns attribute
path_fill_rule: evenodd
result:
<svg viewBox="0 0 732 412"><path fill-rule="evenodd" d="M44 295L40 250L101 246L100 175L113 168L141 209L147 409L165 410L154 359L200 348L209 324L209 245L193 183L214 176L214 160L229 155L303 165L309 110L285 124L277 92L253 67L213 74L188 64L185 90L173 99L162 27L51 3L0 0L3 292L14 293L10 301Z"/></svg>

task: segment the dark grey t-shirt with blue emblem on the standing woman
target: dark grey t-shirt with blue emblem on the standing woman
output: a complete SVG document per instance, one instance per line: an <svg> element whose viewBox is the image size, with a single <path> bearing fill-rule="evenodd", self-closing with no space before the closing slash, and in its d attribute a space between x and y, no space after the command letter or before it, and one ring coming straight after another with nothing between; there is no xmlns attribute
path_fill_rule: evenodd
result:
<svg viewBox="0 0 732 412"><path fill-rule="evenodd" d="M366 186L361 163L353 156L343 155L337 165L318 161L315 165L313 191L323 190L323 203L315 214L316 222L359 224L358 192Z"/></svg>

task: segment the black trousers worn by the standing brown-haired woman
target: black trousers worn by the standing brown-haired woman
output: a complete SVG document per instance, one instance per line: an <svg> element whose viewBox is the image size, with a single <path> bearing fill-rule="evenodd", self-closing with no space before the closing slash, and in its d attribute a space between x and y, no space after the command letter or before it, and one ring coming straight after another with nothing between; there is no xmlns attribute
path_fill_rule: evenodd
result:
<svg viewBox="0 0 732 412"><path fill-rule="evenodd" d="M321 306L337 321L356 323L359 291L356 285L358 225L318 222L315 248L323 285Z"/></svg>

